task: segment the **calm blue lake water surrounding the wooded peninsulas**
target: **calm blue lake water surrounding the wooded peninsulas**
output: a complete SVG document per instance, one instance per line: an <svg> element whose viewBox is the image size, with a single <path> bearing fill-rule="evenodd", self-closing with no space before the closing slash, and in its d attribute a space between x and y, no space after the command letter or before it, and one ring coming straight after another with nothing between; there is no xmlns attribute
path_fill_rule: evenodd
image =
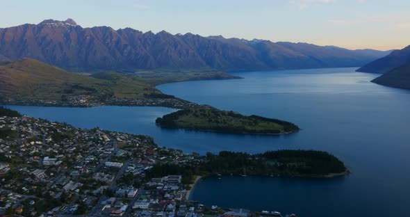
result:
<svg viewBox="0 0 410 217"><path fill-rule="evenodd" d="M191 199L206 205L301 216L410 216L410 91L370 83L377 74L354 70L240 72L233 74L245 79L158 86L192 102L288 120L302 128L286 136L165 130L156 127L155 119L174 109L158 107L9 107L77 127L147 134L158 145L186 152L325 150L352 171L334 179L202 179Z"/></svg>

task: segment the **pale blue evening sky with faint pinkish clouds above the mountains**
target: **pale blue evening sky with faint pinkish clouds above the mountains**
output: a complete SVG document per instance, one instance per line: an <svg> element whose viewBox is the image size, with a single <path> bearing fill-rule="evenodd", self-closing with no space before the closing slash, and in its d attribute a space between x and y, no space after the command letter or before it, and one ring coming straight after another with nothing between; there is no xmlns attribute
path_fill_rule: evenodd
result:
<svg viewBox="0 0 410 217"><path fill-rule="evenodd" d="M0 28L72 18L83 27L307 42L410 45L409 0L0 0Z"/></svg>

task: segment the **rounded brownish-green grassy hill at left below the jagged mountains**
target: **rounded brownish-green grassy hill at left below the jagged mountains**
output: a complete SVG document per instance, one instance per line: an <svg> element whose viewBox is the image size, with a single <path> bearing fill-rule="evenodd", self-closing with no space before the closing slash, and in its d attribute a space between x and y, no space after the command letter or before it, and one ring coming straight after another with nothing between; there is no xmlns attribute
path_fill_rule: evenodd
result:
<svg viewBox="0 0 410 217"><path fill-rule="evenodd" d="M72 74L34 61L22 59L0 67L0 93L22 99L61 99L61 95L90 94L92 89L108 86L106 81ZM74 88L73 88L74 87Z"/></svg>

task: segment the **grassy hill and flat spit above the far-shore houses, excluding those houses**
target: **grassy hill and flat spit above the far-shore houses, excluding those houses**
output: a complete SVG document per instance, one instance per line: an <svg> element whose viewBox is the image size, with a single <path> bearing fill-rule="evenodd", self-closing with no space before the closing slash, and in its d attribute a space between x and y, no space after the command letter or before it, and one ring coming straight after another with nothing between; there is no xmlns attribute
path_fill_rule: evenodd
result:
<svg viewBox="0 0 410 217"><path fill-rule="evenodd" d="M60 100L63 95L94 98L142 98L163 95L161 83L198 79L231 79L229 74L195 72L100 72L91 77L67 72L40 61L23 58L0 63L0 97L22 100Z"/></svg>

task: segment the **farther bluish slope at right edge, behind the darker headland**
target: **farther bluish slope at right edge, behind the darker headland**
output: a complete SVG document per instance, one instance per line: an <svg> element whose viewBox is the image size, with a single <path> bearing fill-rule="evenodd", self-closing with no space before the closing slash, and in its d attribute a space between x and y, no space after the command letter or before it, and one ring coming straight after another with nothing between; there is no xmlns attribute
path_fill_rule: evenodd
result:
<svg viewBox="0 0 410 217"><path fill-rule="evenodd" d="M372 72L386 73L400 67L406 63L410 63L410 46L401 50L395 50L388 56L379 58L368 65L361 67L357 72Z"/></svg>

